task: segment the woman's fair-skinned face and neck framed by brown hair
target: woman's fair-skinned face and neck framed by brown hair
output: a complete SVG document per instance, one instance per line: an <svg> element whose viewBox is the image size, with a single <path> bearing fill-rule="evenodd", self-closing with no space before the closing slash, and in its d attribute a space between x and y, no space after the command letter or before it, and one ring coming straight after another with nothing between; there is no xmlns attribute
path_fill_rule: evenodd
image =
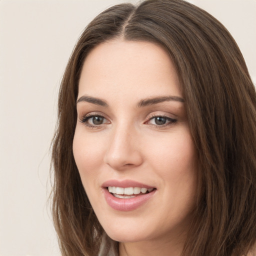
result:
<svg viewBox="0 0 256 256"><path fill-rule="evenodd" d="M100 224L120 242L120 256L181 253L197 187L184 105L173 63L158 45L116 39L85 59L73 154ZM125 195L109 192L111 185L148 190Z"/></svg>

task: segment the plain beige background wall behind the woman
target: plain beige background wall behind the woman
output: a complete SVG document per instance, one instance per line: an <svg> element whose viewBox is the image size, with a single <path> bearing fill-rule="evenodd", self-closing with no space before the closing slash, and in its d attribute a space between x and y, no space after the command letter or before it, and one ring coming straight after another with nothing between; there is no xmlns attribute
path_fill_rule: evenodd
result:
<svg viewBox="0 0 256 256"><path fill-rule="evenodd" d="M0 0L0 256L58 255L46 203L58 86L87 22L120 2ZM229 29L255 82L256 0L191 2Z"/></svg>

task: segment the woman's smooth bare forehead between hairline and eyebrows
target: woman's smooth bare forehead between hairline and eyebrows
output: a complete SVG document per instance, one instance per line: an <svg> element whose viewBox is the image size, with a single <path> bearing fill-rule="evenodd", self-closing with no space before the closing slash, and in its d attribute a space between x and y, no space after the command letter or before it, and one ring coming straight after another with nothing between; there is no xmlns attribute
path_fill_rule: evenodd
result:
<svg viewBox="0 0 256 256"><path fill-rule="evenodd" d="M175 67L162 47L125 40L101 43L86 57L78 96L95 91L104 97L182 95Z"/></svg>

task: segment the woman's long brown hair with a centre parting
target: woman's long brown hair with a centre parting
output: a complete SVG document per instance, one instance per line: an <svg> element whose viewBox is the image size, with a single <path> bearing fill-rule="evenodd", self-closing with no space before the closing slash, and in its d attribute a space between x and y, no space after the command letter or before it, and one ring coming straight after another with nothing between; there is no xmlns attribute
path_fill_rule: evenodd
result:
<svg viewBox="0 0 256 256"><path fill-rule="evenodd" d="M52 213L62 255L118 254L91 208L72 153L83 61L96 45L118 37L161 45L182 86L200 173L182 255L246 254L256 240L256 94L246 64L229 32L204 10L183 0L145 0L95 17L62 78L52 146Z"/></svg>

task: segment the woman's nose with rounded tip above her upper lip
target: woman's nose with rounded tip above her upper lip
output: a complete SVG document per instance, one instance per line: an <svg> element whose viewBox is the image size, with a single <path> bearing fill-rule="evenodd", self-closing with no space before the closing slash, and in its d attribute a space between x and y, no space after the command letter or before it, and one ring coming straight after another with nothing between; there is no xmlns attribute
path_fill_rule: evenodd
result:
<svg viewBox="0 0 256 256"><path fill-rule="evenodd" d="M143 161L139 150L139 134L134 129L123 126L116 127L111 132L104 162L115 170L139 166Z"/></svg>

